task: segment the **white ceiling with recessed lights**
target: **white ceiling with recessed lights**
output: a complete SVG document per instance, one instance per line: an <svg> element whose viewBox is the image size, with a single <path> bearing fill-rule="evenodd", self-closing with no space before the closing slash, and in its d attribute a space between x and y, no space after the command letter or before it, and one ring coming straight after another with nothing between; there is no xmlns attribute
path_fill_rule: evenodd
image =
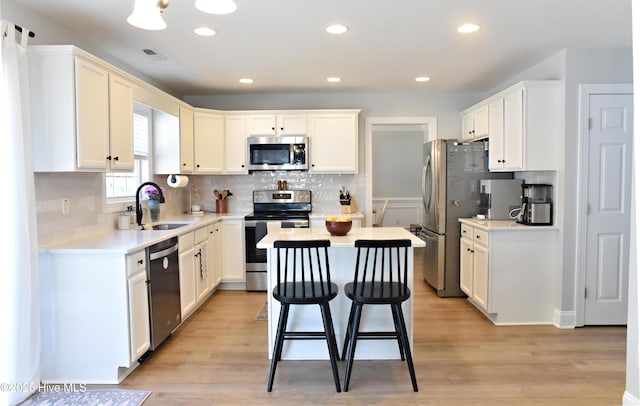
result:
<svg viewBox="0 0 640 406"><path fill-rule="evenodd" d="M216 16L170 0L168 28L144 31L126 22L134 0L15 0L177 95L485 91L563 48L631 47L631 0L235 1ZM480 31L459 34L466 22ZM349 31L326 33L334 23Z"/></svg>

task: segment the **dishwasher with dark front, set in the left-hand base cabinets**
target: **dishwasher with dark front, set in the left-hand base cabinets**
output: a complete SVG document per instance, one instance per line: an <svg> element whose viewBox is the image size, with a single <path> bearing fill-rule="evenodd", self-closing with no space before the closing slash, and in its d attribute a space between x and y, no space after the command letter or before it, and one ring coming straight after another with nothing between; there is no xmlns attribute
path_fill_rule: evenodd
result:
<svg viewBox="0 0 640 406"><path fill-rule="evenodd" d="M178 237L149 246L147 257L150 349L153 351L181 322Z"/></svg>

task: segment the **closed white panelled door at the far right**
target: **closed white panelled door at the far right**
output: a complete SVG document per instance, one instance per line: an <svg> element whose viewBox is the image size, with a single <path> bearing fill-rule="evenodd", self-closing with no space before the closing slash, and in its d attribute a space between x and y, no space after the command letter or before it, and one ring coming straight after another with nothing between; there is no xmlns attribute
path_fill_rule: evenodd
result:
<svg viewBox="0 0 640 406"><path fill-rule="evenodd" d="M626 324L633 95L589 97L584 324Z"/></svg>

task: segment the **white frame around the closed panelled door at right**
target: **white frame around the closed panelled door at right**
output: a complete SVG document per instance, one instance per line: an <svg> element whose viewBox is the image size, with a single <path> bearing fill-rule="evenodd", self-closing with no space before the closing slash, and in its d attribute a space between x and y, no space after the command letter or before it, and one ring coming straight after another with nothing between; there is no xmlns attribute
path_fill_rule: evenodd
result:
<svg viewBox="0 0 640 406"><path fill-rule="evenodd" d="M575 280L575 326L584 326L587 267L587 193L589 187L589 113L590 97L598 94L633 94L632 83L580 84L578 100L578 201L576 210L576 280ZM635 123L634 123L635 125ZM629 176L632 174L629 173ZM631 221L631 218L629 218Z"/></svg>

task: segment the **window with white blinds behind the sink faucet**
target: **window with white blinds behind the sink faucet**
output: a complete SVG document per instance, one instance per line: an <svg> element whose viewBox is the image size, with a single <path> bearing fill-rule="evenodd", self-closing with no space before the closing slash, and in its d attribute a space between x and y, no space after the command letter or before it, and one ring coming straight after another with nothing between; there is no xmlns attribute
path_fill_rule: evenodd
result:
<svg viewBox="0 0 640 406"><path fill-rule="evenodd" d="M135 202L136 189L150 179L149 140L151 138L151 110L136 106L133 113L133 172L105 174L107 211L123 210Z"/></svg>

